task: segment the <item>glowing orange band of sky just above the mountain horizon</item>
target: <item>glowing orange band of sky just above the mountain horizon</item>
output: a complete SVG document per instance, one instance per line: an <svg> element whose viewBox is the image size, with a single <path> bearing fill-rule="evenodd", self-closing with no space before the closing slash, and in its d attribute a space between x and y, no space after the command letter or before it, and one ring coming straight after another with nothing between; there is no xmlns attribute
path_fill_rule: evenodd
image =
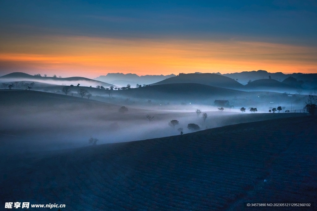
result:
<svg viewBox="0 0 317 211"><path fill-rule="evenodd" d="M94 78L108 72L317 72L317 49L236 40L29 37L0 41L0 69Z"/></svg>

